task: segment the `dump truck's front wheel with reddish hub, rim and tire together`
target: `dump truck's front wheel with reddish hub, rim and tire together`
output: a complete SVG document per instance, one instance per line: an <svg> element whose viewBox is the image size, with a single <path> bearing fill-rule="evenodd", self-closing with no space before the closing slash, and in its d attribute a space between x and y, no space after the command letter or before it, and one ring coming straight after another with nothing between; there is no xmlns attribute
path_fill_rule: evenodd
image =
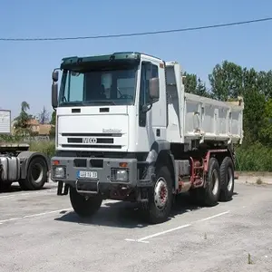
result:
<svg viewBox="0 0 272 272"><path fill-rule="evenodd" d="M149 201L144 206L144 214L151 224L165 222L170 216L172 206L172 178L167 166L158 168L156 182L149 190ZM162 197L161 195L162 194Z"/></svg>

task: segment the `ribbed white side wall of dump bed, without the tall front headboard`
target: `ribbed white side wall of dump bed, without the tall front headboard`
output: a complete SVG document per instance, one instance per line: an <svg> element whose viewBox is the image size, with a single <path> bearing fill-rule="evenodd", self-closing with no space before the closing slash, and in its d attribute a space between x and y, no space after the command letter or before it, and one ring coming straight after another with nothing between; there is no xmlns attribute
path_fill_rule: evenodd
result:
<svg viewBox="0 0 272 272"><path fill-rule="evenodd" d="M232 141L243 139L243 102L221 102L184 93L184 140Z"/></svg>

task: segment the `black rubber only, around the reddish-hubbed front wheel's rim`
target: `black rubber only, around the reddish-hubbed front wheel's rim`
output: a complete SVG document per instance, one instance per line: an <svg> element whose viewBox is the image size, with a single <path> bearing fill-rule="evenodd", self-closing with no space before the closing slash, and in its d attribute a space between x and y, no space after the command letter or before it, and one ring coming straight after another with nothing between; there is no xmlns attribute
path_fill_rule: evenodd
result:
<svg viewBox="0 0 272 272"><path fill-rule="evenodd" d="M168 197L163 209L158 209L155 205L155 200L154 200L155 184L157 180L160 179L160 177L166 181L167 189L168 189ZM150 224L163 223L170 216L170 210L171 210L171 206L173 202L173 193L172 193L173 180L170 175L170 170L168 169L167 166L158 167L155 184L149 190L149 201L147 205L143 206L145 218Z"/></svg>

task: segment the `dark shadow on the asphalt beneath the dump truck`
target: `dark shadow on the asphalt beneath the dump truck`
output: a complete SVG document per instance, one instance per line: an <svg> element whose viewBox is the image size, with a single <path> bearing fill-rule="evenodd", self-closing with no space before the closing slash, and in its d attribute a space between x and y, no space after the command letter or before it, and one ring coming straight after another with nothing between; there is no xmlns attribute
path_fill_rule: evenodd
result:
<svg viewBox="0 0 272 272"><path fill-rule="evenodd" d="M234 194L234 197L237 193ZM54 220L69 223L76 223L81 225L94 225L115 228L145 228L147 224L143 217L141 208L137 203L131 202L115 202L105 203L105 207L101 207L92 218L80 218L75 212L63 211L60 213L61 217ZM199 206L193 205L190 202L188 194L179 195L176 198L175 204L172 207L170 219L176 216L190 212L193 210L202 209ZM211 208L210 208L211 209Z"/></svg>

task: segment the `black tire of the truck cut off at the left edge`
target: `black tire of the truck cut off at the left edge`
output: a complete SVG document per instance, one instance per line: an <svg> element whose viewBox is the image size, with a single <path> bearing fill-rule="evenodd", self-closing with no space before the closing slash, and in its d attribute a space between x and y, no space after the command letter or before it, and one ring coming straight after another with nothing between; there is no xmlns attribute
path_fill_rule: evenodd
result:
<svg viewBox="0 0 272 272"><path fill-rule="evenodd" d="M47 180L47 163L43 157L34 157L30 160L25 180L19 180L21 189L42 189ZM36 172L34 172L36 171ZM39 173L39 181L35 181L35 174Z"/></svg>

